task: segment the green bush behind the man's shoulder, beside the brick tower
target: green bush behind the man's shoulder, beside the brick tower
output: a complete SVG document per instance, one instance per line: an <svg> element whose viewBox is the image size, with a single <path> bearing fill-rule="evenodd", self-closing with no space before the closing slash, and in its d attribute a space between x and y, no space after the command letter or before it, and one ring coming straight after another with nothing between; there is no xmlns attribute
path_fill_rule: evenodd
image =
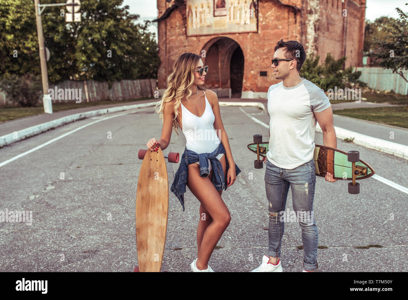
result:
<svg viewBox="0 0 408 300"><path fill-rule="evenodd" d="M324 64L319 65L319 55L315 59L307 58L300 69L300 75L313 82L323 90L328 90L337 86L345 88L346 84L354 83L364 86L364 82L359 79L361 72L353 72L353 68L342 70L346 57L335 60L330 53L327 53Z"/></svg>

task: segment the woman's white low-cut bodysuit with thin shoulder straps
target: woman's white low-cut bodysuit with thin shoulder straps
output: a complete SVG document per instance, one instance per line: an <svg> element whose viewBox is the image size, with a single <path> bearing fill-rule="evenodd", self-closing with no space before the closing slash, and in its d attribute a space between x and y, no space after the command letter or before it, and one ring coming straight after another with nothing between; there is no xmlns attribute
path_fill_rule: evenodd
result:
<svg viewBox="0 0 408 300"><path fill-rule="evenodd" d="M204 92L204 91L203 91ZM192 150L197 154L211 153L217 149L220 144L220 139L214 129L215 116L211 108L210 102L204 92L205 109L201 117L197 117L191 113L184 105L181 105L182 110L182 126L183 133L186 137L186 148ZM220 159L224 153L217 155L217 159ZM211 164L208 159L208 170L211 172ZM199 162L197 162L200 164ZM212 169L212 168L211 168Z"/></svg>

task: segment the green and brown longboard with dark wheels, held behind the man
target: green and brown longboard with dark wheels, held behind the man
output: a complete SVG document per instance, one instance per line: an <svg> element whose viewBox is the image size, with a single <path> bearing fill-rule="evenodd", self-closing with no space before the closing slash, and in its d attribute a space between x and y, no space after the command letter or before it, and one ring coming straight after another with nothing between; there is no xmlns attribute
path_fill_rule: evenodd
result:
<svg viewBox="0 0 408 300"><path fill-rule="evenodd" d="M263 161L259 160L259 156L266 157L268 146L269 142L262 141L262 135L254 135L254 142L248 145L248 149L258 155L254 161L256 169L263 168ZM344 152L328 146L315 145L313 158L316 176L324 177L326 172L329 172L333 174L333 179L352 180L348 188L350 194L359 193L359 183L355 183L355 180L366 179L375 174L374 169L359 158L358 151Z"/></svg>

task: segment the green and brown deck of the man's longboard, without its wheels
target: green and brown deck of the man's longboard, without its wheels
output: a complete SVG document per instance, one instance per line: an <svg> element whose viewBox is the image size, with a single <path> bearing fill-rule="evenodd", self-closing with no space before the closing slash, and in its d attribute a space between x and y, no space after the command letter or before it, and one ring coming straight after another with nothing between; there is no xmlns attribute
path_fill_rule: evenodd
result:
<svg viewBox="0 0 408 300"><path fill-rule="evenodd" d="M269 151L268 146L269 142L259 143L259 156L266 157L266 153ZM257 153L257 144L249 144L248 149ZM324 177L326 172L329 172L333 174L334 179L353 179L352 162L347 160L347 152L328 146L315 145L313 158L315 160L316 176ZM366 179L375 174L373 168L361 159L355 165L356 168L362 171L360 175L356 176L356 179Z"/></svg>

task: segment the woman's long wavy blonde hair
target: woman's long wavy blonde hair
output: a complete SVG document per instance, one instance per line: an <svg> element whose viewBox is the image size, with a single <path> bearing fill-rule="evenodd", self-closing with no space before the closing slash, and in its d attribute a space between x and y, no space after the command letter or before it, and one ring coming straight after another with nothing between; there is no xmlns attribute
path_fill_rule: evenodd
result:
<svg viewBox="0 0 408 300"><path fill-rule="evenodd" d="M195 81L194 69L196 68L201 56L194 53L183 53L180 55L173 65L173 73L169 75L166 82L166 90L163 93L162 99L157 101L155 112L159 114L160 119L162 119L162 124L164 123L163 111L164 103L172 101L174 102L174 114L173 128L177 134L177 129L180 125L177 122L178 107L181 104L181 99L186 96L187 98L192 94L192 86ZM199 90L206 90L204 86L197 86Z"/></svg>

